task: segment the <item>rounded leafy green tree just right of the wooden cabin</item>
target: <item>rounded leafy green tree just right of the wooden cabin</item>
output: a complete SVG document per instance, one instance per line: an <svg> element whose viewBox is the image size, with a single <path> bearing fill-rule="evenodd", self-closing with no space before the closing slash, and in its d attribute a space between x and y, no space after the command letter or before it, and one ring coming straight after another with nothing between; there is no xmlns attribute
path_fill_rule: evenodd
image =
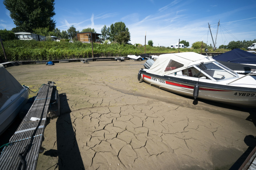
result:
<svg viewBox="0 0 256 170"><path fill-rule="evenodd" d="M121 33L123 32L123 33ZM126 32L126 33L124 33ZM130 35L130 32L129 32L129 29L125 26L125 24L123 22L116 22L115 24L111 24L110 25L110 33L109 33L109 40L110 41L119 41L119 40L116 40L116 38L118 36L120 36L120 34L125 34L127 35L126 37L126 42L124 43L128 43L128 41L130 41L130 38L131 38L131 35Z"/></svg>

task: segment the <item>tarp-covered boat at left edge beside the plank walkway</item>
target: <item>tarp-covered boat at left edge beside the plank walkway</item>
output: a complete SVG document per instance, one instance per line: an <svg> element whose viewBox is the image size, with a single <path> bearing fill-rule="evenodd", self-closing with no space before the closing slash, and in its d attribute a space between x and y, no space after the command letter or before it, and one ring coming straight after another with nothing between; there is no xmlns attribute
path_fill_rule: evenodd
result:
<svg viewBox="0 0 256 170"><path fill-rule="evenodd" d="M20 83L0 64L0 135L28 101L28 87Z"/></svg>

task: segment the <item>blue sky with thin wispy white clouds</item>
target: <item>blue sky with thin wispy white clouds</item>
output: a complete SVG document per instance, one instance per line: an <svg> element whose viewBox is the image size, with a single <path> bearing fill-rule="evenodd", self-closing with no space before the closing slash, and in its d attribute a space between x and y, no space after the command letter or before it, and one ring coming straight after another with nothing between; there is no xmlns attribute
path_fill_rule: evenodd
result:
<svg viewBox="0 0 256 170"><path fill-rule="evenodd" d="M230 41L256 39L256 0L203 1L203 0L130 0L130 1L68 1L55 0L53 19L58 29L76 30L101 28L122 21L131 34L131 43L145 44L145 31L153 45L168 47L181 40L213 44L208 23L215 41L217 23L220 28L217 48ZM0 3L0 29L11 30L15 25L9 11Z"/></svg>

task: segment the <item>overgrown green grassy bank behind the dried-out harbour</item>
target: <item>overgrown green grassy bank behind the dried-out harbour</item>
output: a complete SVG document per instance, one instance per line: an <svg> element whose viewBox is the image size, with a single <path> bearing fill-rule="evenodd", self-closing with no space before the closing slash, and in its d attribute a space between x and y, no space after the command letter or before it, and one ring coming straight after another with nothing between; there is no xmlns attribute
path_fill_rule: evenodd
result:
<svg viewBox="0 0 256 170"><path fill-rule="evenodd" d="M92 44L75 41L4 41L4 48L8 61L42 61L61 60L70 58L90 58L92 57ZM218 49L216 52L220 52ZM145 47L135 47L133 45L120 44L97 44L93 43L93 54L97 56L127 56L144 54ZM148 54L177 53L178 49L165 47L146 46ZM200 53L201 49L182 48L180 52ZM5 61L3 49L0 49L0 61Z"/></svg>

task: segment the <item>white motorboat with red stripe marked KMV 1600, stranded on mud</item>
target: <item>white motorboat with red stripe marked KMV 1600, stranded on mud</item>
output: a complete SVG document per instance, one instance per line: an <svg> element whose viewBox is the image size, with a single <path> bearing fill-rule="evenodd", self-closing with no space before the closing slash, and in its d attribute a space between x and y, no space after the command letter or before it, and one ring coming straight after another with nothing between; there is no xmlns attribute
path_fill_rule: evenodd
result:
<svg viewBox="0 0 256 170"><path fill-rule="evenodd" d="M159 55L142 79L170 92L241 107L256 107L255 72L240 75L214 59L194 52Z"/></svg>

